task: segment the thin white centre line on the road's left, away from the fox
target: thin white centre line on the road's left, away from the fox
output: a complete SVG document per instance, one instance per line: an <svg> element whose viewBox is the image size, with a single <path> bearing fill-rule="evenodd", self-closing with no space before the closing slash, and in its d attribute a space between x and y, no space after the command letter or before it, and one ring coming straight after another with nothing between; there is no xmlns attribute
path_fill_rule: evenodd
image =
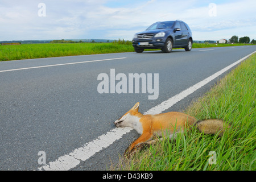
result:
<svg viewBox="0 0 256 182"><path fill-rule="evenodd" d="M98 62L98 61L109 61L109 60L118 60L118 59L126 59L127 57L118 57L118 58L111 58L111 59L100 59L100 60L92 60L92 61L82 61L82 62L75 62L75 63L63 63L63 64L52 64L52 65L44 65L39 67L28 67L28 68L18 68L18 69L7 69L0 71L1 72L11 72L11 71L19 71L24 69L35 69L35 68L46 68L46 67L57 67L62 65L70 65L70 64L81 64L81 63L92 63L92 62Z"/></svg>

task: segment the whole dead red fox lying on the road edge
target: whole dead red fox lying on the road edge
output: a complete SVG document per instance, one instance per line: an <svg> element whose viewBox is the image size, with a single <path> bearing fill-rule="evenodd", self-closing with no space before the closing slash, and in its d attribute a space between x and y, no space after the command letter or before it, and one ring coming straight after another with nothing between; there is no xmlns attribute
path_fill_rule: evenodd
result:
<svg viewBox="0 0 256 182"><path fill-rule="evenodd" d="M125 115L114 122L115 126L117 127L129 126L141 134L141 137L131 143L131 145L127 148L126 153L133 151L134 148L139 146L139 144L155 143L156 140L152 140L154 136L164 137L164 135L168 133L171 139L172 135L179 132L182 133L186 127L195 124L197 129L205 134L218 133L218 135L221 137L225 130L224 122L220 119L197 121L196 118L179 112L143 115L142 113L139 113L138 110L139 102L137 102L137 104L135 104L129 111L127 111ZM230 126L227 125L227 127L229 128Z"/></svg>

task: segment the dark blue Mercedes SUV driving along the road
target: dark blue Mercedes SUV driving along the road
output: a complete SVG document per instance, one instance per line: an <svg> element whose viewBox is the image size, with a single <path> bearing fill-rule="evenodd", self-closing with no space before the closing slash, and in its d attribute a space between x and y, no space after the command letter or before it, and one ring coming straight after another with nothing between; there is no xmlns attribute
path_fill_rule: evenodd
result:
<svg viewBox="0 0 256 182"><path fill-rule="evenodd" d="M144 49L162 49L169 53L172 48L185 48L191 51L192 32L187 23L176 20L168 22L156 22L146 31L134 35L133 47L136 52L141 53Z"/></svg>

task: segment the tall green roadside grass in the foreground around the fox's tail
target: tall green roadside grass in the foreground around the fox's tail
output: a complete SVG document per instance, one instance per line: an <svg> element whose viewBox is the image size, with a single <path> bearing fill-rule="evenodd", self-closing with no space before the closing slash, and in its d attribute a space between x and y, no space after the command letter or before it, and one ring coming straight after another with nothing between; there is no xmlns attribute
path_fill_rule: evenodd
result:
<svg viewBox="0 0 256 182"><path fill-rule="evenodd" d="M176 139L166 139L147 147L131 160L121 157L114 170L255 171L255 85L256 54L184 111L198 119L224 119L232 127L223 137L199 133L192 127L184 134L178 134Z"/></svg>

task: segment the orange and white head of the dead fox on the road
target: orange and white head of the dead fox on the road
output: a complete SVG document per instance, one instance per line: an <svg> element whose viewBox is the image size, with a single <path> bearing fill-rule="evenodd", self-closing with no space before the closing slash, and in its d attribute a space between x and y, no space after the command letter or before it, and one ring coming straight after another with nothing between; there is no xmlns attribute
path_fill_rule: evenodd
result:
<svg viewBox="0 0 256 182"><path fill-rule="evenodd" d="M134 123L138 122L142 117L142 114L139 113L139 102L137 102L127 113L125 113L120 119L117 119L114 124L117 127L133 127Z"/></svg>

